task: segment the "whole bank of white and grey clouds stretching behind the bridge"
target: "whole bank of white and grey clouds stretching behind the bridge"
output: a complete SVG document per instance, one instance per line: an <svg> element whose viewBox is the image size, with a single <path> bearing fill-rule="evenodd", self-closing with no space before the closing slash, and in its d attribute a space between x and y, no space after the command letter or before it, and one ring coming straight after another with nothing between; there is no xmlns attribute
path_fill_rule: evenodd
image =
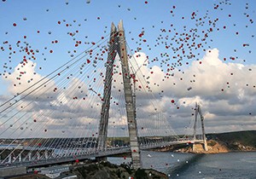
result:
<svg viewBox="0 0 256 179"><path fill-rule="evenodd" d="M256 125L255 65L243 65L236 61L224 63L218 59L218 49L207 51L201 61L193 61L183 71L174 69L168 72L169 75L160 66L149 66L147 55L143 53L133 55L130 60L138 79L137 120L139 128L143 128L140 135L157 130L155 121L160 112L166 119L158 120L158 124L166 129L171 129L172 124L177 133L183 133L184 128L188 128L195 118L192 115L195 102L201 105L207 132L251 130ZM25 66L19 64L15 72L4 79L9 83L10 94L20 93L44 78L35 72L35 66L32 61L27 61ZM119 75L121 66L118 61L113 70L110 135L124 134L123 129L127 129L123 82ZM16 87L13 87L14 84ZM95 84L73 77L64 88L49 80L47 88L20 101L22 104L18 104L17 109L30 104L23 108L23 112L32 113L32 118L38 118L38 121L40 118L44 119L40 129L49 129L48 135L61 136L60 132L63 130L69 131L73 136L83 134L83 130L86 134L95 134L102 110L102 96L98 96L98 93L102 93L102 88L90 90L93 87L91 85ZM188 90L189 87L191 88ZM35 88L36 86L32 90ZM55 88L57 90L54 92ZM74 97L77 99L73 99ZM6 97L1 96L1 99ZM175 102L172 103L172 100ZM6 115L5 118L9 116ZM14 122L10 121L9 124ZM26 124L27 129L31 122L30 120ZM22 120L17 124L22 124ZM77 131L72 131L73 128ZM115 131L117 129L118 132ZM166 134L167 130L162 132Z"/></svg>

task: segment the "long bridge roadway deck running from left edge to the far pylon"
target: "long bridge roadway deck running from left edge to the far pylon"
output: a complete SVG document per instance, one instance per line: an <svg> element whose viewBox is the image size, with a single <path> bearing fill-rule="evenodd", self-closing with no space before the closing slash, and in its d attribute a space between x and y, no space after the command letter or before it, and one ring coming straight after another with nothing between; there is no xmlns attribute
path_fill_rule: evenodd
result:
<svg viewBox="0 0 256 179"><path fill-rule="evenodd" d="M142 145L140 146L141 150L151 149L151 148L157 148L157 147L166 147L171 145L177 145L177 144L184 144L184 143L203 143L202 140L183 140L183 141L161 141L158 143L148 144L148 145ZM78 150L79 151L79 150ZM113 154L121 154L121 153L130 153L131 149L130 147L114 147L114 148L108 148L105 151L93 151L88 152L84 151L83 153L72 153L72 156L58 156L56 157L49 157L48 159L36 159L29 161L28 159L26 161L15 161L14 163L5 163L0 165L0 169L3 167L16 167L16 166L26 166L27 168L34 168L39 166L45 166L45 165L53 165L53 164L63 164L72 162L76 159L91 159L96 157L104 157L104 156L110 156Z"/></svg>

